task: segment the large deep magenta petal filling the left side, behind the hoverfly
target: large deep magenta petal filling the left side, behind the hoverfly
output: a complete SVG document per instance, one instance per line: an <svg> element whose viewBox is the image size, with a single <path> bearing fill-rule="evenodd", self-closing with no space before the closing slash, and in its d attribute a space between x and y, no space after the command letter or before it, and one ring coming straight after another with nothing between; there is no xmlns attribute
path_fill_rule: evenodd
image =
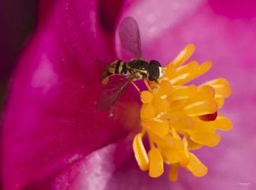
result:
<svg viewBox="0 0 256 190"><path fill-rule="evenodd" d="M56 1L47 8L5 110L5 189L49 187L76 155L85 157L128 131L96 109L101 70L116 59L113 33L99 24L96 1Z"/></svg>

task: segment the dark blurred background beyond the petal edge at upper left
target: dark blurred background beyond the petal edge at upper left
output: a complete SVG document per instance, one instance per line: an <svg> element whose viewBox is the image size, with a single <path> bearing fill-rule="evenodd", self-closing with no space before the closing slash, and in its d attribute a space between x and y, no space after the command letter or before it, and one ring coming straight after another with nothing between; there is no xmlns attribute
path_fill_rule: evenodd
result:
<svg viewBox="0 0 256 190"><path fill-rule="evenodd" d="M37 1L0 0L0 110L8 81L36 24Z"/></svg>

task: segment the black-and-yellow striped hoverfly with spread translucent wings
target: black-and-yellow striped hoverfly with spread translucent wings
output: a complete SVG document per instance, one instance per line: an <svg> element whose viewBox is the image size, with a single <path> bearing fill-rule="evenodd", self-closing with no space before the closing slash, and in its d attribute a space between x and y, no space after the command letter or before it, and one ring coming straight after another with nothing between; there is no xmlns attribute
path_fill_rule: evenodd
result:
<svg viewBox="0 0 256 190"><path fill-rule="evenodd" d="M105 87L98 98L98 110L110 109L133 81L146 79L158 82L161 74L162 67L158 61L147 62L142 59L139 25L133 17L123 18L118 34L122 47L132 52L136 59L130 62L116 60L107 65L101 74L101 82ZM120 78L116 82L108 82L108 79L114 75L124 77L124 80Z"/></svg>

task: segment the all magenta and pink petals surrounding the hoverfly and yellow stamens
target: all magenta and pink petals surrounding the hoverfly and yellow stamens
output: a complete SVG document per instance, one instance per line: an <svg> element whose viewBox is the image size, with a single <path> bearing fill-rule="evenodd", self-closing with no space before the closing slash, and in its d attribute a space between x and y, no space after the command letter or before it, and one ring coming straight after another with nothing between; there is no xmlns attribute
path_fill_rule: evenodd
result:
<svg viewBox="0 0 256 190"><path fill-rule="evenodd" d="M256 189L256 2L56 0L38 8L2 116L4 189ZM168 172L151 179L139 170L130 135L138 127L133 87L117 118L96 109L102 69L128 58L115 45L115 26L127 15L139 23L144 59L166 65L195 43L193 59L213 61L196 82L230 81L222 114L233 129L217 147L196 151L209 168L206 177L180 171L171 183Z"/></svg>

